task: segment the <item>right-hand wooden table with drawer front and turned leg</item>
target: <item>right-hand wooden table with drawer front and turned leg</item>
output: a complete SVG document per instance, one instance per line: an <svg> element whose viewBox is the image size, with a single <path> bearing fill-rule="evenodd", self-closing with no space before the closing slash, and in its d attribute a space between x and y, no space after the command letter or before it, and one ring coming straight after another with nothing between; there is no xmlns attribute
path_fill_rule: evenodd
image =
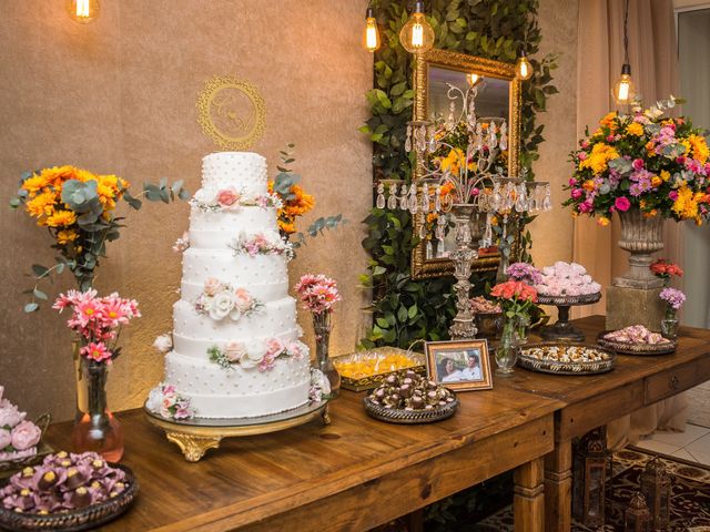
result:
<svg viewBox="0 0 710 532"><path fill-rule="evenodd" d="M591 316L575 326L594 344L604 321ZM513 377L495 379L498 390L527 391L565 405L555 413L555 451L545 459L548 531L570 530L572 438L710 379L710 330L682 327L680 335L673 355L620 355L608 374L565 377L516 368Z"/></svg>

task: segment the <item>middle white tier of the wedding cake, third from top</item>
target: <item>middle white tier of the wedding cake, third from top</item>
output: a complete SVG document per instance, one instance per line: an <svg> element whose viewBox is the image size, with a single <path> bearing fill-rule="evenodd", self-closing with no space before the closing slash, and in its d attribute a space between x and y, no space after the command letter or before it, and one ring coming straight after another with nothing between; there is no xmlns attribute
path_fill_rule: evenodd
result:
<svg viewBox="0 0 710 532"><path fill-rule="evenodd" d="M182 257L183 283L204 284L214 277L234 287L272 283L288 283L286 257L283 255L245 254L234 256L231 249L196 249L190 247Z"/></svg>

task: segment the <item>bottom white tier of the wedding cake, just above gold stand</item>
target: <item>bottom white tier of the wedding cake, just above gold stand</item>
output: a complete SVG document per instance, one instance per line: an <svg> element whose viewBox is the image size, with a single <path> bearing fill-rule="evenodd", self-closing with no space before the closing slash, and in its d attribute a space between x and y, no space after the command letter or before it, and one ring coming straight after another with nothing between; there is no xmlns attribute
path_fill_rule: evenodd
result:
<svg viewBox="0 0 710 532"><path fill-rule="evenodd" d="M210 361L170 352L165 380L190 399L199 418L253 418L305 405L311 370L308 357L276 360L270 371L224 370Z"/></svg>

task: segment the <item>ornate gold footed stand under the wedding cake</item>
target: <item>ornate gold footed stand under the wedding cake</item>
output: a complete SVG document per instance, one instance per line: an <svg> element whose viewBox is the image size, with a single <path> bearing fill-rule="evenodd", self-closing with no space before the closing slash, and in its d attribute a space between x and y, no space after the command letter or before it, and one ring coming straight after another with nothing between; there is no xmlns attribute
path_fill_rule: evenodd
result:
<svg viewBox="0 0 710 532"><path fill-rule="evenodd" d="M189 462L197 462L207 450L217 449L223 438L276 432L307 423L318 417L323 424L331 424L327 400L310 402L293 410L258 418L175 421L163 418L148 408L143 408L143 411L151 423L165 431L168 441L180 447Z"/></svg>

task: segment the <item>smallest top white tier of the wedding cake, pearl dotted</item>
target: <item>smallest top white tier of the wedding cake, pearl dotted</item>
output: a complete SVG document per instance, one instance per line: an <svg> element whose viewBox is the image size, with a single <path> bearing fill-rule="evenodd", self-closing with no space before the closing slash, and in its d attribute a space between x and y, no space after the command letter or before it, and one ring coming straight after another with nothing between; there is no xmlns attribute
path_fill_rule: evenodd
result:
<svg viewBox="0 0 710 532"><path fill-rule="evenodd" d="M266 160L250 152L211 153L202 158L202 187L266 194Z"/></svg>

